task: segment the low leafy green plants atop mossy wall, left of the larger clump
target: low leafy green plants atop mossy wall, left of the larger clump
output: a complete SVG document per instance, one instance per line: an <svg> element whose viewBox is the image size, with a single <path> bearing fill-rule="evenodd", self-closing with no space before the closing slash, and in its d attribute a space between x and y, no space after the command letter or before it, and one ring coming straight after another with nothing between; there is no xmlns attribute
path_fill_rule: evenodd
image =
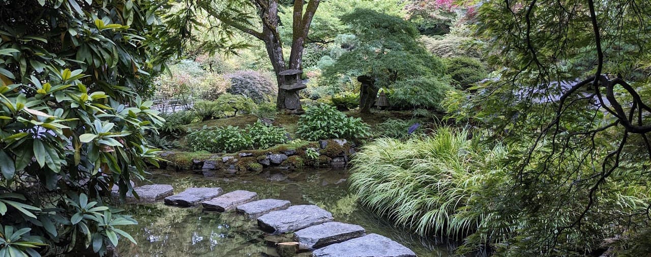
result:
<svg viewBox="0 0 651 257"><path fill-rule="evenodd" d="M251 135L237 127L204 128L188 133L187 145L193 151L238 152L251 148Z"/></svg>

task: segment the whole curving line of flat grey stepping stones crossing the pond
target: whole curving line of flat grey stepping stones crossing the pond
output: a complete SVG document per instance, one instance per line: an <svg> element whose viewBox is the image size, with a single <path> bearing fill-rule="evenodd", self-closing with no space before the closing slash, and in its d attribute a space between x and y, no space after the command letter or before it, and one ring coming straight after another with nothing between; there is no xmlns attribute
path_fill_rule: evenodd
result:
<svg viewBox="0 0 651 257"><path fill-rule="evenodd" d="M153 200L160 200L164 197L161 195L171 195L173 191L171 185L148 185L134 190L138 190L141 198ZM165 197L165 204L188 207L201 202L206 210L236 209L249 219L256 219L262 230L273 234L294 232L293 239L298 244L279 244L279 249L281 245L296 245L296 250L316 249L312 257L416 257L412 250L387 237L366 235L366 230L359 225L333 221L331 213L315 205L290 206L290 201L277 199L253 201L257 194L244 190L221 193L219 187L191 187Z"/></svg>

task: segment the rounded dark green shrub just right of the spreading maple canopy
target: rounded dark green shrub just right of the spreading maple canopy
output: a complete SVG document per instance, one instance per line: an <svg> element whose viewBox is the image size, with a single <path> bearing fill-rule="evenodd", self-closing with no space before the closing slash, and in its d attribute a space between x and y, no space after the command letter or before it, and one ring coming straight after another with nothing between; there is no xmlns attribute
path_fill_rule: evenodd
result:
<svg viewBox="0 0 651 257"><path fill-rule="evenodd" d="M486 79L488 71L484 64L475 58L452 57L445 59L447 72L452 77L452 85L458 89L467 89L470 85Z"/></svg>

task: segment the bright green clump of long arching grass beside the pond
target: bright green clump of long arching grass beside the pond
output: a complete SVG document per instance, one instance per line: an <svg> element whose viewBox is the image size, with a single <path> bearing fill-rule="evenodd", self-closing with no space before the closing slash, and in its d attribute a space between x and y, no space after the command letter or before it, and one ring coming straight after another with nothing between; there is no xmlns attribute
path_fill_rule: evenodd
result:
<svg viewBox="0 0 651 257"><path fill-rule="evenodd" d="M370 142L352 160L351 189L363 204L418 234L468 235L482 221L471 198L488 174L502 169L498 160L506 151L467 138L468 131L440 128L431 136Z"/></svg>

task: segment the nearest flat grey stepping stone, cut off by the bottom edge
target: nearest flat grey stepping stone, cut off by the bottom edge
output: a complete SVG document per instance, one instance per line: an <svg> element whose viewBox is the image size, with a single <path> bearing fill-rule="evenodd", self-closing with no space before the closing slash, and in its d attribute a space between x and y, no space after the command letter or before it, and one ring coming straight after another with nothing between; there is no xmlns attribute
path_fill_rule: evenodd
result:
<svg viewBox="0 0 651 257"><path fill-rule="evenodd" d="M368 234L312 252L313 257L416 257L404 245L378 234Z"/></svg>

